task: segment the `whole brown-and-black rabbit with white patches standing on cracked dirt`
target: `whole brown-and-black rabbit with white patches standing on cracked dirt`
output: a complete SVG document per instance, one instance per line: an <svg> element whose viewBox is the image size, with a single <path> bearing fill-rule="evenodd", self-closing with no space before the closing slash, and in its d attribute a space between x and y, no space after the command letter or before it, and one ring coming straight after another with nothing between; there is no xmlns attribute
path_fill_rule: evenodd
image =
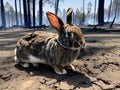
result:
<svg viewBox="0 0 120 90"><path fill-rule="evenodd" d="M57 74L67 74L65 68L74 70L71 64L85 47L85 39L79 27L72 24L73 9L67 10L66 24L54 13L46 12L50 25L57 31L46 35L35 31L18 40L15 48L15 62L23 67L45 63Z"/></svg>

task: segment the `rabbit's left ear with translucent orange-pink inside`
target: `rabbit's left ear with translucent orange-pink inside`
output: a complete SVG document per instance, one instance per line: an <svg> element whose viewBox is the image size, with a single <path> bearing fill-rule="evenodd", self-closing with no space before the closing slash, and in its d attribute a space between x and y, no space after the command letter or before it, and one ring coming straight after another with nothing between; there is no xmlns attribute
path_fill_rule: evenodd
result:
<svg viewBox="0 0 120 90"><path fill-rule="evenodd" d="M63 28L64 23L58 16L56 16L55 14L53 14L51 12L46 12L46 15L47 15L47 18L53 28L55 28L57 30L60 30Z"/></svg>

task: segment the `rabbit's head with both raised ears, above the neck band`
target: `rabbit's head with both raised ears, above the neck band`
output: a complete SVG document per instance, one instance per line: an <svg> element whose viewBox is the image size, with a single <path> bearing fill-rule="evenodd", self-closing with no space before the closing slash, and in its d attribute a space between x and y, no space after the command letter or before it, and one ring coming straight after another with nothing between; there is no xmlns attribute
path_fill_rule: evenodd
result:
<svg viewBox="0 0 120 90"><path fill-rule="evenodd" d="M72 24L72 12L72 8L67 10L66 24L51 12L46 15L51 26L58 32L58 42L66 48L79 49L85 46L85 39L81 29Z"/></svg>

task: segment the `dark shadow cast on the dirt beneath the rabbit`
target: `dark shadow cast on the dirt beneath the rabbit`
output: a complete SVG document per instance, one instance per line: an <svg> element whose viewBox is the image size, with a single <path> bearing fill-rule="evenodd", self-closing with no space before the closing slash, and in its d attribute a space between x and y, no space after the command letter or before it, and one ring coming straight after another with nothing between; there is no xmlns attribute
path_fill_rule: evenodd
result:
<svg viewBox="0 0 120 90"><path fill-rule="evenodd" d="M19 64L15 67L19 70L27 73L33 72L34 76L45 76L47 78L56 79L57 82L67 82L69 85L73 85L75 88L87 88L91 86L90 79L77 71L68 70L66 75L58 75L54 72L53 68L49 65L40 64L38 67L23 68Z"/></svg>

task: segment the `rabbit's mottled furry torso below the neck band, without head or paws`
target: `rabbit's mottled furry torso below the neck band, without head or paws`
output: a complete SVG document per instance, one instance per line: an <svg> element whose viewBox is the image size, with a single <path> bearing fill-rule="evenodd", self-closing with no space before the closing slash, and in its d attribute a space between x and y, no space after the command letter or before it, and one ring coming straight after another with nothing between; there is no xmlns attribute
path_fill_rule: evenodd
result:
<svg viewBox="0 0 120 90"><path fill-rule="evenodd" d="M36 32L29 34L30 37L21 39L16 48L16 56L19 62L26 63L46 63L48 65L65 66L70 64L77 56L78 50L67 49L62 47L58 41L58 35L41 37L41 33ZM32 37L36 36L36 37ZM30 38L30 39L28 39ZM23 40L28 40L29 44L20 45ZM20 47L19 47L20 46ZM34 57L34 60L32 58Z"/></svg>

